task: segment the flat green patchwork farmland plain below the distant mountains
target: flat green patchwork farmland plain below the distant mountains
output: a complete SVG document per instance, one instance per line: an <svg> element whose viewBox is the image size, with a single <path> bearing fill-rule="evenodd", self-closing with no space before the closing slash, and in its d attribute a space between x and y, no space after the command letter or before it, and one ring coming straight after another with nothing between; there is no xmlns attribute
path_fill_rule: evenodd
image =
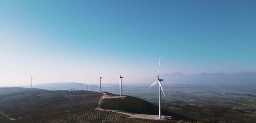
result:
<svg viewBox="0 0 256 123"><path fill-rule="evenodd" d="M162 102L182 101L256 112L255 85L174 85L163 87L166 97L162 96ZM104 88L104 90L114 94L119 93L119 88L117 87ZM141 98L151 103L158 102L158 89L156 87L150 89L147 87L124 87L124 94Z"/></svg>

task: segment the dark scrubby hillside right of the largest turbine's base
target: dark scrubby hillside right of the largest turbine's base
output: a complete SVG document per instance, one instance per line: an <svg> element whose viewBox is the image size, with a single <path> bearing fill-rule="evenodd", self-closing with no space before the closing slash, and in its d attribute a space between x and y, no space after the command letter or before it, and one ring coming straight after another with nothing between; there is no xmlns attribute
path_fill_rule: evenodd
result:
<svg viewBox="0 0 256 123"><path fill-rule="evenodd" d="M228 107L172 102L163 103L163 108L207 123L256 123L256 113Z"/></svg>

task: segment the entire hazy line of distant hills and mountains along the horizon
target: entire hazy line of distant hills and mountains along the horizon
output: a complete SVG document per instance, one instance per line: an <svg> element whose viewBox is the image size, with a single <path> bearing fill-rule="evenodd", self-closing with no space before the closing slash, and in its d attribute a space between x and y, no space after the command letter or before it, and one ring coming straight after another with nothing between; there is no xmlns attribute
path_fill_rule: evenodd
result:
<svg viewBox="0 0 256 123"><path fill-rule="evenodd" d="M124 89L130 87L149 87L154 81L156 81L157 76L150 78L143 78L137 83L124 82L122 87ZM161 79L164 79L162 82L163 86L173 86L173 85L182 85L182 84L221 84L221 85L230 85L230 84L256 84L256 73L253 72L241 72L236 74L226 74L226 73L200 73L194 75L187 75L181 72L176 72L173 74L161 74ZM142 80L142 81L141 81ZM20 86L20 87L30 87ZM34 85L35 88L46 89L46 90L87 90L87 84L83 83L45 83ZM157 86L155 86L157 87ZM93 85L93 90L99 90L99 85ZM102 88L105 89L119 89L119 83L117 84L102 84ZM88 84L88 90L92 90L92 85Z"/></svg>

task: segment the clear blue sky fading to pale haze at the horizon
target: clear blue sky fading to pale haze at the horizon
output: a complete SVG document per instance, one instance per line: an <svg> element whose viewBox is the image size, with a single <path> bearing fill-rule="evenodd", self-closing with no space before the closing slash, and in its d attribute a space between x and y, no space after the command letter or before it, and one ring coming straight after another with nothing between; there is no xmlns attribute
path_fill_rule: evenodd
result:
<svg viewBox="0 0 256 123"><path fill-rule="evenodd" d="M256 72L255 0L0 0L0 86Z"/></svg>

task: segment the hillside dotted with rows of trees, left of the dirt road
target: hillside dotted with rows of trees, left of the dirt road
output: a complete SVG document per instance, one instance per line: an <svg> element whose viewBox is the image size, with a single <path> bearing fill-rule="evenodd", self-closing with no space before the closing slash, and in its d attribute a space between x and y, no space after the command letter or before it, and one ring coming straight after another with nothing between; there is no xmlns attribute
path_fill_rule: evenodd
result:
<svg viewBox="0 0 256 123"><path fill-rule="evenodd" d="M4 91L8 93L3 93ZM11 91L14 90L14 91ZM173 123L130 119L127 115L95 110L102 94L91 91L46 91L0 88L0 123Z"/></svg>

